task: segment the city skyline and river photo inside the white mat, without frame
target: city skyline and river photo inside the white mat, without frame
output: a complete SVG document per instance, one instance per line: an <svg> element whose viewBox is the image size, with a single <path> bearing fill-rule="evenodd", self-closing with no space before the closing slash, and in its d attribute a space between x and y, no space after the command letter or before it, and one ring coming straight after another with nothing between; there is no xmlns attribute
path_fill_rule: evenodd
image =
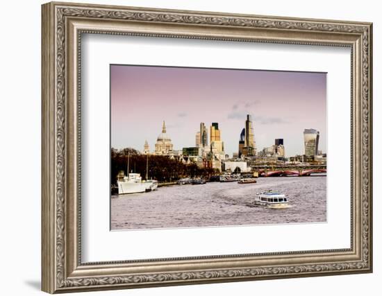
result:
<svg viewBox="0 0 382 296"><path fill-rule="evenodd" d="M110 65L112 230L326 222L326 73Z"/></svg>

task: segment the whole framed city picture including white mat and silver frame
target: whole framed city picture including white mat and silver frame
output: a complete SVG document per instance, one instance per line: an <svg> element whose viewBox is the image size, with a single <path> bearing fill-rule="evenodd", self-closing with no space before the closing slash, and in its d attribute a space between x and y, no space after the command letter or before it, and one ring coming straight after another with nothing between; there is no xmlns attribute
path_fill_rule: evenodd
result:
<svg viewBox="0 0 382 296"><path fill-rule="evenodd" d="M41 15L42 290L372 272L372 23Z"/></svg>

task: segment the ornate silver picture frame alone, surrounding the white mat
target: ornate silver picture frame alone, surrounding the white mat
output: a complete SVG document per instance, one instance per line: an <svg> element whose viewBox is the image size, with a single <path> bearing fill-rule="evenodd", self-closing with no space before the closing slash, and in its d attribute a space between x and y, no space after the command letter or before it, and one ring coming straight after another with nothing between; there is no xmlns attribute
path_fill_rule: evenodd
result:
<svg viewBox="0 0 382 296"><path fill-rule="evenodd" d="M81 36L85 33L348 47L350 247L84 263ZM362 272L372 272L372 24L78 3L42 6L42 290L65 293Z"/></svg>

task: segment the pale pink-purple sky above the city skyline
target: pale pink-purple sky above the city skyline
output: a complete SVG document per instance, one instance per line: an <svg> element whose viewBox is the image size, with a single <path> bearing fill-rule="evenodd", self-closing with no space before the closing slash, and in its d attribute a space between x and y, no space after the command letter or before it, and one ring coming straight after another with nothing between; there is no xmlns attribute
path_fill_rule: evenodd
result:
<svg viewBox="0 0 382 296"><path fill-rule="evenodd" d="M166 122L175 150L195 145L199 123L219 123L226 153L238 150L247 114L258 151L283 138L304 153L304 128L326 153L326 73L111 65L111 146L151 150Z"/></svg>

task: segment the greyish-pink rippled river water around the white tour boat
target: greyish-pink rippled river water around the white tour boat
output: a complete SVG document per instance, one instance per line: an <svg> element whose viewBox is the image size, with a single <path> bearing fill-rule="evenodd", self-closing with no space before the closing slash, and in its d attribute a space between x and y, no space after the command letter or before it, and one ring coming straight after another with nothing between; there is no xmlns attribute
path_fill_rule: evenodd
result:
<svg viewBox="0 0 382 296"><path fill-rule="evenodd" d="M285 194L292 207L255 206L254 196L265 189ZM113 195L110 210L112 230L326 222L326 176L163 186Z"/></svg>

